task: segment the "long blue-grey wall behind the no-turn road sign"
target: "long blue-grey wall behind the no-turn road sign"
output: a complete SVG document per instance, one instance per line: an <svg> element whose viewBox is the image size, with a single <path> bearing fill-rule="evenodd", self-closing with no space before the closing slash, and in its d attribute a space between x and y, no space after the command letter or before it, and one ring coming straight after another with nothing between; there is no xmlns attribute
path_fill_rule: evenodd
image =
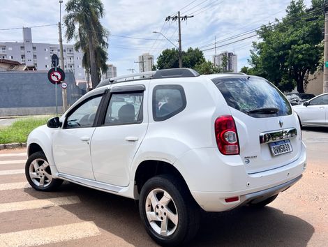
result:
<svg viewBox="0 0 328 247"><path fill-rule="evenodd" d="M66 73L67 101L72 105L85 91L75 84L74 75ZM62 112L61 87L57 86L58 111ZM55 86L47 72L0 71L0 117L56 113Z"/></svg>

